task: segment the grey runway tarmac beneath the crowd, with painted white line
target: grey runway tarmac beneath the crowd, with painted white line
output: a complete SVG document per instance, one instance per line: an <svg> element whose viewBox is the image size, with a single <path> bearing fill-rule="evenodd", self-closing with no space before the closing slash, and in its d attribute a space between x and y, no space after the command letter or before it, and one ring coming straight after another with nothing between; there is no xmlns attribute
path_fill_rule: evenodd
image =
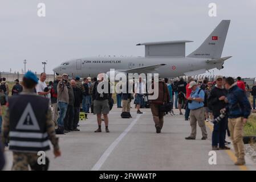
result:
<svg viewBox="0 0 256 182"><path fill-rule="evenodd" d="M132 109L130 119L121 119L121 109L115 106L109 114L110 133L94 133L96 115L80 121L79 132L59 135L62 156L54 159L50 170L256 170L255 163L246 158L246 166L234 166L233 151L216 151L217 164L209 164L211 146L210 123L208 139L201 140L198 127L196 140L185 140L190 125L184 115L166 115L161 134L156 134L150 109ZM174 110L178 114L178 110ZM6 151L6 170L11 169L12 153Z"/></svg>

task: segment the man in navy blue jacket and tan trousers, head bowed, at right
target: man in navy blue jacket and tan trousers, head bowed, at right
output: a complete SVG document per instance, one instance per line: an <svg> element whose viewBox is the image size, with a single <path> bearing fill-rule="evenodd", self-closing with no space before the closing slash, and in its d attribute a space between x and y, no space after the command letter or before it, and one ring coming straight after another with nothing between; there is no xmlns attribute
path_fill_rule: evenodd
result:
<svg viewBox="0 0 256 182"><path fill-rule="evenodd" d="M247 118L250 115L251 106L245 92L238 88L234 82L234 78L226 78L225 88L229 90L225 101L228 103L226 111L229 117L230 138L233 142L235 156L237 156L235 165L241 166L245 164L243 126L246 124Z"/></svg>

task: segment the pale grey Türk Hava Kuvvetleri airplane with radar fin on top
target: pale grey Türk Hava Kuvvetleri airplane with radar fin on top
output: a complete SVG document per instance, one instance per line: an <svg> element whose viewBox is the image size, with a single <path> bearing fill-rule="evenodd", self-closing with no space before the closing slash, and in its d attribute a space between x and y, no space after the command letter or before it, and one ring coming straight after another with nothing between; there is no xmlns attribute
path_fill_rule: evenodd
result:
<svg viewBox="0 0 256 182"><path fill-rule="evenodd" d="M189 40L141 43L145 57L86 57L65 61L54 69L57 75L97 77L98 73L159 73L160 77L194 76L222 69L228 57L221 57L230 20L222 20L196 51L185 56Z"/></svg>

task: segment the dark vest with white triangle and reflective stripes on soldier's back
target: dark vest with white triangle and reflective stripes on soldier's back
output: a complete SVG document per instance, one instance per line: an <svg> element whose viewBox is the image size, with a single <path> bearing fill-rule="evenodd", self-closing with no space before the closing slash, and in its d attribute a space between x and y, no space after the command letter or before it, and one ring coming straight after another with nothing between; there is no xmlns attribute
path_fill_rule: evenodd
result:
<svg viewBox="0 0 256 182"><path fill-rule="evenodd" d="M10 150L38 152L50 150L46 130L49 100L36 95L17 95L9 99Z"/></svg>

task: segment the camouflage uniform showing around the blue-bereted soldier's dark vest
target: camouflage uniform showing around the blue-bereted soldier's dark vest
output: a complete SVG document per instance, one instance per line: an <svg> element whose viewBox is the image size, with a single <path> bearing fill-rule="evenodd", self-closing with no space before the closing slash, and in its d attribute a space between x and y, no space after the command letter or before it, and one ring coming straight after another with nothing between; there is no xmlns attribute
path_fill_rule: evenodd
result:
<svg viewBox="0 0 256 182"><path fill-rule="evenodd" d="M21 94L35 94L34 90L24 90ZM46 129L48 139L54 146L54 151L59 150L58 138L55 134L55 125L52 121L52 111L48 107L46 114ZM5 117L2 123L2 143L5 144L8 141L10 132L10 111L6 110ZM32 152L13 152L13 171L28 170L28 166L37 163L38 155Z"/></svg>

